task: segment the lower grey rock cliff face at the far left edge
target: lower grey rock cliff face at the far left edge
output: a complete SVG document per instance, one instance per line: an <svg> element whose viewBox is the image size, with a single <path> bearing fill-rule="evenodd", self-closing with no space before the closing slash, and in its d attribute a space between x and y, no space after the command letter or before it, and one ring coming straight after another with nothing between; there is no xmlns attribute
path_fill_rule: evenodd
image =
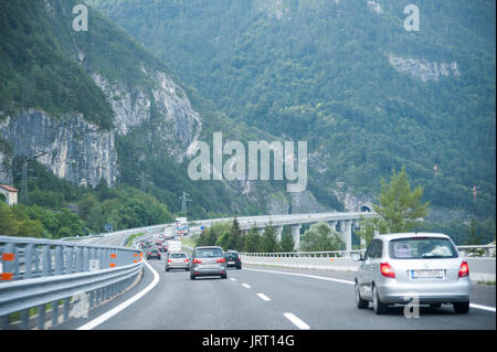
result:
<svg viewBox="0 0 497 352"><path fill-rule="evenodd" d="M3 117L0 135L13 157L36 157L54 174L76 184L96 185L104 179L113 185L119 175L114 131L99 130L81 114L59 120L29 109Z"/></svg>

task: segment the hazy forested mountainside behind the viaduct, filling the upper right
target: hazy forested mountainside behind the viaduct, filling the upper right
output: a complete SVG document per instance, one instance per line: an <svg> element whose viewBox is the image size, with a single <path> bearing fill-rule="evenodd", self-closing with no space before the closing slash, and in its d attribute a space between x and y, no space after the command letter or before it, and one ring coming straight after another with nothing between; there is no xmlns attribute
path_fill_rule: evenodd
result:
<svg viewBox="0 0 497 352"><path fill-rule="evenodd" d="M233 119L307 140L317 196L404 164L433 206L495 220L495 1L87 2Z"/></svg>

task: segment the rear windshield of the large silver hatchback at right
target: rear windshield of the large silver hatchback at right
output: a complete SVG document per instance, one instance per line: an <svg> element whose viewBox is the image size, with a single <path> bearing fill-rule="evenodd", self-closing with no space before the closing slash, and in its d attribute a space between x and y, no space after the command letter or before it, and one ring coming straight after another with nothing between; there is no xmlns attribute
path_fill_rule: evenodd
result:
<svg viewBox="0 0 497 352"><path fill-rule="evenodd" d="M394 259L457 258L457 250L447 238L399 238L390 241L389 255Z"/></svg>

